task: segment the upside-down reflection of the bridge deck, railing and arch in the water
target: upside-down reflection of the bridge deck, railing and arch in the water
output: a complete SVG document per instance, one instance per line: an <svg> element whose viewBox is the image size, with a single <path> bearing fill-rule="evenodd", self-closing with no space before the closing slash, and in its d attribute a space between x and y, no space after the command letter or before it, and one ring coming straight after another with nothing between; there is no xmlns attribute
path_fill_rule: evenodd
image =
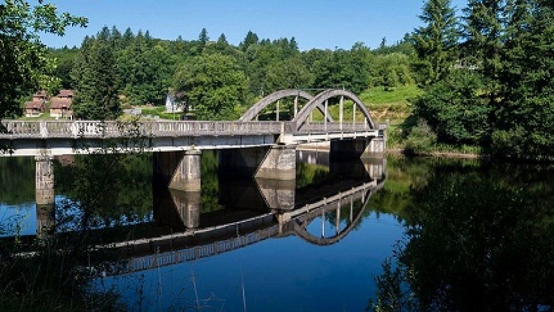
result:
<svg viewBox="0 0 554 312"><path fill-rule="evenodd" d="M364 215L370 196L383 184L384 180L361 183L345 192L332 194L320 201L287 212L274 210L258 217L221 226L103 246L103 248L123 248L130 255L123 265L115 266L105 274L132 273L211 257L256 244L271 237L296 235L310 244L323 246L334 244L357 226ZM361 201L361 204L355 205L357 201ZM348 219L346 227L341 230L343 210L347 210ZM325 237L324 232L325 214L328 212L335 212L336 234L332 237ZM321 237L316 237L307 230L307 226L317 217L321 217ZM170 250L163 251L164 248Z"/></svg>

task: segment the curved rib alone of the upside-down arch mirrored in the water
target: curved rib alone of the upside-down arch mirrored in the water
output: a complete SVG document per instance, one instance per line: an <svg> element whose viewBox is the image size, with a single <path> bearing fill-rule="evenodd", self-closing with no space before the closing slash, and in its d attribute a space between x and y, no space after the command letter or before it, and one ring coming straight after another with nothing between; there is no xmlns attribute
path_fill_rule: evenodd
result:
<svg viewBox="0 0 554 312"><path fill-rule="evenodd" d="M370 196L373 194L373 190L366 191L366 196L364 203L362 203L361 209L359 210L358 214L355 218L352 219L352 222L346 226L341 232L339 232L337 235L334 235L333 237L315 237L314 235L310 234L306 230L307 226L312 222L313 219L316 217L319 217L320 213L314 214L313 216L307 217L304 221L295 221L294 222L294 234L304 241L307 241L310 244L319 245L319 246L329 246L332 244L337 243L348 233L355 228L361 217L364 215L364 211L366 210L366 205L369 202Z"/></svg>

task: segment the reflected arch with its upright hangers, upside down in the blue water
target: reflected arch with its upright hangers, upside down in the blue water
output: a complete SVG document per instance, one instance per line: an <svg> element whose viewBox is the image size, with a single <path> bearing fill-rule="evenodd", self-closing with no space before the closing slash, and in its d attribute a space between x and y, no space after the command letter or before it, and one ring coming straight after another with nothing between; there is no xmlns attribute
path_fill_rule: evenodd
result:
<svg viewBox="0 0 554 312"><path fill-rule="evenodd" d="M314 210L314 212L306 214L305 217L296 219L294 221L294 234L300 237L301 239L303 239L304 241L307 241L308 243L314 244L314 245L328 246L328 245L337 243L338 241L346 237L346 235L348 235L348 233L353 228L355 228L355 226L359 223L361 217L363 217L364 215L364 211L366 210L366 206L369 202L371 195L376 190L379 190L383 186L383 184L384 184L384 181L381 181L377 183L377 186L375 188L364 190L363 196L360 196L361 198L364 199L364 201L361 203L361 209L359 210L356 217L353 218L350 223L348 223L348 226L346 226L346 228L341 230L341 232L339 232L337 235L334 235L333 237L315 237L314 235L310 234L310 232L306 230L306 227L310 225L310 223L316 217L319 217L321 215L321 210ZM350 196L355 196L355 194L352 194ZM333 208L333 209L337 209L337 208ZM325 208L323 208L323 210L325 210Z"/></svg>

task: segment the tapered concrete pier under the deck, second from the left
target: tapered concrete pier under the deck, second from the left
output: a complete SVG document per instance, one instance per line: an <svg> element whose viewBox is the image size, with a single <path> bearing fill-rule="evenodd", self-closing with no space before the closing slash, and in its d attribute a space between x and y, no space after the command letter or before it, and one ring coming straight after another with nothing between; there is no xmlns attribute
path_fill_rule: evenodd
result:
<svg viewBox="0 0 554 312"><path fill-rule="evenodd" d="M200 190L200 156L202 152L193 149L186 152L154 153L154 174L157 183L185 192Z"/></svg>

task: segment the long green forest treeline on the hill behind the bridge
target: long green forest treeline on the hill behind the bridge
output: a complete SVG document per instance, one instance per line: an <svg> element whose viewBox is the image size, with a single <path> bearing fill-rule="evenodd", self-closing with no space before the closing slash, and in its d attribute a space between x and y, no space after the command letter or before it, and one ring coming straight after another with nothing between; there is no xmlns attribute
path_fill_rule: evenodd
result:
<svg viewBox="0 0 554 312"><path fill-rule="evenodd" d="M249 31L233 46L206 29L187 41L153 38L148 31L102 28L80 48L50 49L59 87L77 91L80 118L115 118L120 104L163 104L168 89L192 104L199 119L238 118L247 105L278 89L413 84L415 51L408 37L370 49L299 51L294 37L260 39Z"/></svg>

